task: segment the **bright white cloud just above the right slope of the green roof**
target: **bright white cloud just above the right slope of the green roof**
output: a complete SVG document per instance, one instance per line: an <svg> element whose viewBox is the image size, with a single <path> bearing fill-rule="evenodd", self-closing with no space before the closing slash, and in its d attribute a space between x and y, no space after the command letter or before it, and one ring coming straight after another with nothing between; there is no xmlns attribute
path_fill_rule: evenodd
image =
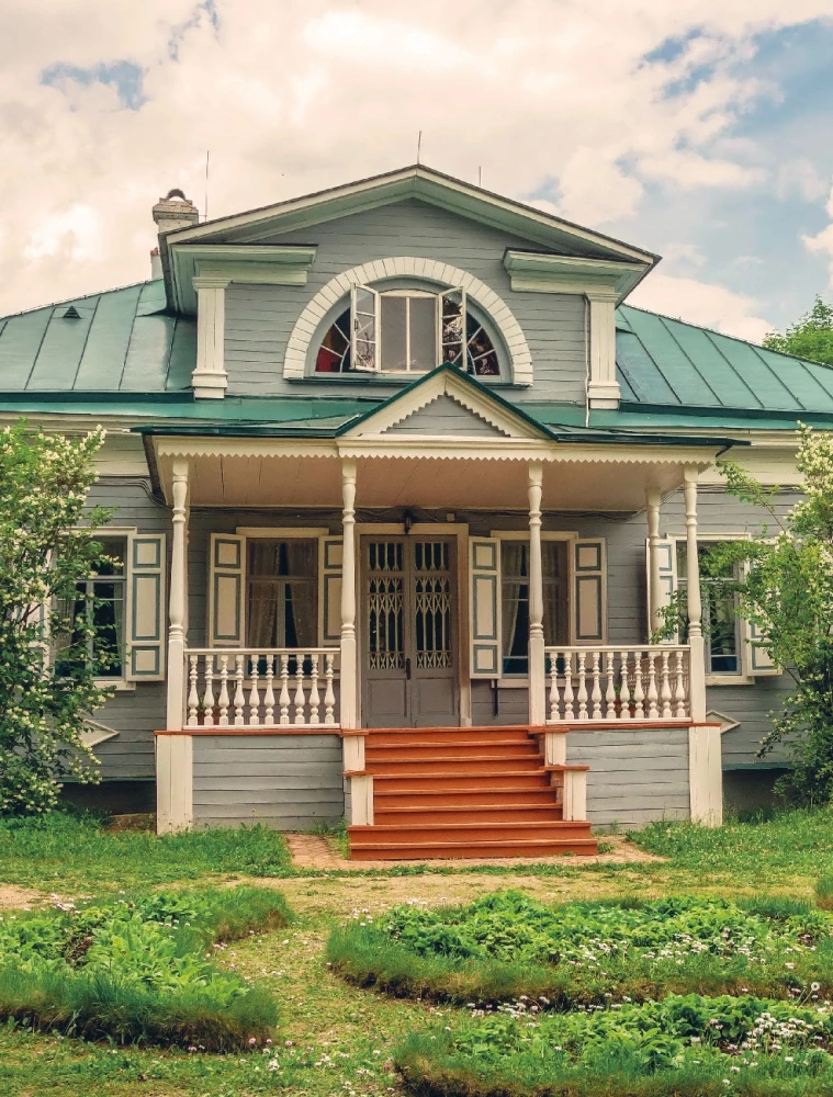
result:
<svg viewBox="0 0 833 1097"><path fill-rule="evenodd" d="M649 308L689 324L714 328L739 339L761 342L773 325L756 315L758 303L724 285L674 278L654 271L628 298L629 305Z"/></svg>

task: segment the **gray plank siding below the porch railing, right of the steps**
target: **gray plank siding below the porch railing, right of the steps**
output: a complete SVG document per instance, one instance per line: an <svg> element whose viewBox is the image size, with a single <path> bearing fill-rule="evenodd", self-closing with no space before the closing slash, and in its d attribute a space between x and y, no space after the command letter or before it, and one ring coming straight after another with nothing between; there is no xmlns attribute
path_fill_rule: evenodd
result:
<svg viewBox="0 0 833 1097"><path fill-rule="evenodd" d="M572 731L567 759L590 767L587 817L597 826L689 817L686 727Z"/></svg>

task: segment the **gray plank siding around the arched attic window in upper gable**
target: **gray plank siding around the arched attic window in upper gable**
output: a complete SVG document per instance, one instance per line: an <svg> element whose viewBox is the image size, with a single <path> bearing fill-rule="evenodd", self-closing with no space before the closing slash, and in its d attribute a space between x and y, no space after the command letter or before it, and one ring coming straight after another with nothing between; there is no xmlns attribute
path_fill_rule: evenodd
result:
<svg viewBox="0 0 833 1097"><path fill-rule="evenodd" d="M283 358L300 313L331 278L374 259L415 256L470 271L513 310L529 344L534 370L534 385L513 392L513 399L584 398L583 299L571 294L513 292L504 270L506 248L528 248L528 240L413 200L261 242L315 244L318 251L305 286L233 284L226 291L229 396L311 392L323 396L390 396L406 382L374 377L288 382L283 380Z"/></svg>

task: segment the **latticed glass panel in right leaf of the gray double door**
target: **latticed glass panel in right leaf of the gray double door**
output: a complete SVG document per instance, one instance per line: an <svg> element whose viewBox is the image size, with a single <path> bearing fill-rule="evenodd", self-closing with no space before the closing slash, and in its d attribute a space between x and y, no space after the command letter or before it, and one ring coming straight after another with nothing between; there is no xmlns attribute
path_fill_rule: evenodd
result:
<svg viewBox="0 0 833 1097"><path fill-rule="evenodd" d="M451 666L451 575L447 541L414 544L414 630L418 670Z"/></svg>

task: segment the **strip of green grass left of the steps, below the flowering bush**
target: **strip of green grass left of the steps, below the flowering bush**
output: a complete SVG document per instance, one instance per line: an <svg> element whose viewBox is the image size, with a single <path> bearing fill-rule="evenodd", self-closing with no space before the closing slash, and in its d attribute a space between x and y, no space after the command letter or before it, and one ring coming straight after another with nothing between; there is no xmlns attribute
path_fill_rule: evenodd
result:
<svg viewBox="0 0 833 1097"><path fill-rule="evenodd" d="M92 815L60 811L0 819L0 879L18 884L134 887L227 872L289 875L285 839L261 825L113 833Z"/></svg>

